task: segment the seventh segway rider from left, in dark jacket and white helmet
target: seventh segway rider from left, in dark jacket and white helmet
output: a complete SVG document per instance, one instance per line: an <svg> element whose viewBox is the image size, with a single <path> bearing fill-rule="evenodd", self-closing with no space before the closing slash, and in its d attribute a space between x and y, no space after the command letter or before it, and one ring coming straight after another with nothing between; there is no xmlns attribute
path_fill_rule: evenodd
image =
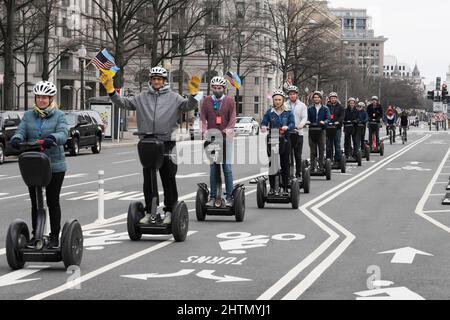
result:
<svg viewBox="0 0 450 320"><path fill-rule="evenodd" d="M345 109L338 101L338 95L336 92L331 92L328 95L330 102L327 107L330 110L330 118L332 124L337 128L336 136L333 140L327 141L327 158L332 159L333 147L334 147L334 162L341 162L342 152L341 152L341 137L342 137L342 124L344 122Z"/></svg>

